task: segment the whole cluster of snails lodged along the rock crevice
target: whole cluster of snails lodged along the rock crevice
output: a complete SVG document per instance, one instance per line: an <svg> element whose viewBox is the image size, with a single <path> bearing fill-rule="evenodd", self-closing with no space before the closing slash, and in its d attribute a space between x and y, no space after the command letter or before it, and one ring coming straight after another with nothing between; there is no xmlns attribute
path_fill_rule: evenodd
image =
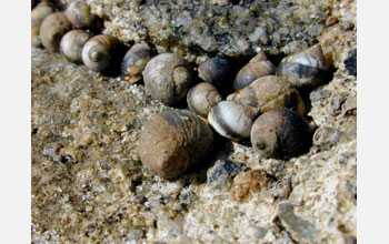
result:
<svg viewBox="0 0 389 244"><path fill-rule="evenodd" d="M126 55L118 55L122 52L118 39L84 31L98 21L82 1L71 2L64 12L53 12L41 2L32 13L32 45L60 50L69 61L99 72L113 69L118 65L113 59L123 57L123 80L143 79L151 96L167 105L187 98L190 110L159 113L143 126L138 152L154 174L174 177L205 159L213 144L210 126L232 141L250 138L252 146L268 157L289 159L311 143L312 129L303 116L306 106L298 89L318 84L328 70L320 44L286 57L277 69L263 52L258 53L237 73L235 92L223 100L219 90L230 69L225 59L201 63L198 77L203 82L193 84L192 67L177 54L152 57L148 44L136 43Z"/></svg>

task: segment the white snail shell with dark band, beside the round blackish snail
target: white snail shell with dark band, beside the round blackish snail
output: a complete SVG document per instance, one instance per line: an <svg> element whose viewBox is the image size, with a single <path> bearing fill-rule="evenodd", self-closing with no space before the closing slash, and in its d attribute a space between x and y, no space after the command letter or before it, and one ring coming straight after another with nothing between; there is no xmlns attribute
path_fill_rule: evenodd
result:
<svg viewBox="0 0 389 244"><path fill-rule="evenodd" d="M208 114L209 124L232 141L249 138L255 119L250 108L236 101L221 101Z"/></svg>

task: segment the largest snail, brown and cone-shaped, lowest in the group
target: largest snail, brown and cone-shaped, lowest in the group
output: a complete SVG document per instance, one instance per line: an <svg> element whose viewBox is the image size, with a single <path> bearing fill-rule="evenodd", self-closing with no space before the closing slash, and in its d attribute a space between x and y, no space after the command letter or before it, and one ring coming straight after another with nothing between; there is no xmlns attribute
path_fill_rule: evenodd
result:
<svg viewBox="0 0 389 244"><path fill-rule="evenodd" d="M176 177L212 150L213 134L206 122L186 110L153 115L140 134L138 152L153 174Z"/></svg>

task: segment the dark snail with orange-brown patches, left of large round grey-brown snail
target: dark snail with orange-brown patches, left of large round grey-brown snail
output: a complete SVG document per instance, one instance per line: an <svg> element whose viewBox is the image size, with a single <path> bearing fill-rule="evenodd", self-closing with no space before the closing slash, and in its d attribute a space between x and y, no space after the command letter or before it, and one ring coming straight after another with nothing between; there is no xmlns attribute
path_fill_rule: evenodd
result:
<svg viewBox="0 0 389 244"><path fill-rule="evenodd" d="M121 62L121 77L131 84L142 79L146 64L151 59L151 49L148 44L136 43L126 53Z"/></svg>

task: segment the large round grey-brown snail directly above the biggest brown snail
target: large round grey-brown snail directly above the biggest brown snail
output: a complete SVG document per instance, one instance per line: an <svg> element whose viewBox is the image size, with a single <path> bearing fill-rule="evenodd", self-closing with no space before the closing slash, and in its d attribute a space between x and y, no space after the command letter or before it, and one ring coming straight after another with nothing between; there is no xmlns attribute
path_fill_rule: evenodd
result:
<svg viewBox="0 0 389 244"><path fill-rule="evenodd" d="M153 99L167 105L182 100L192 83L190 64L173 53L161 53L146 65L143 74L146 89Z"/></svg>

